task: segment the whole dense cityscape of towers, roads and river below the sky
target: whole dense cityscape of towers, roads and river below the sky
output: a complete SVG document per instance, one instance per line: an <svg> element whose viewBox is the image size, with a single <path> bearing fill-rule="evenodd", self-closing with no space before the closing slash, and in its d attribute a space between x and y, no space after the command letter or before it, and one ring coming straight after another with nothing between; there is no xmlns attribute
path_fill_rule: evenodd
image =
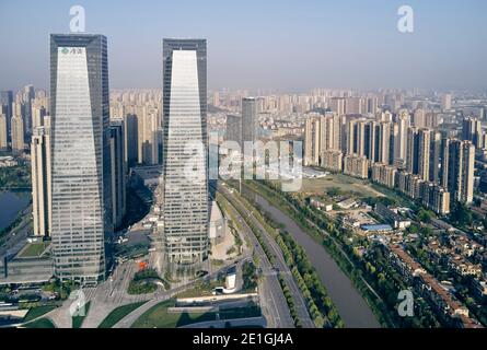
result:
<svg viewBox="0 0 487 350"><path fill-rule="evenodd" d="M208 91L205 39L109 90L106 46L0 92L0 327L487 325L487 92Z"/></svg>

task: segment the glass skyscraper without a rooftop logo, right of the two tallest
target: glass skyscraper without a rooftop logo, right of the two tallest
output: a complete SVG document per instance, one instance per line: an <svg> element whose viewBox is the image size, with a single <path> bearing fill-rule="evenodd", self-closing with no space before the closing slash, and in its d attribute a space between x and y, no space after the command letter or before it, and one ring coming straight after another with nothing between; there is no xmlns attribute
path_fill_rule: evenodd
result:
<svg viewBox="0 0 487 350"><path fill-rule="evenodd" d="M164 39L163 70L164 255L190 273L208 256L206 39Z"/></svg>

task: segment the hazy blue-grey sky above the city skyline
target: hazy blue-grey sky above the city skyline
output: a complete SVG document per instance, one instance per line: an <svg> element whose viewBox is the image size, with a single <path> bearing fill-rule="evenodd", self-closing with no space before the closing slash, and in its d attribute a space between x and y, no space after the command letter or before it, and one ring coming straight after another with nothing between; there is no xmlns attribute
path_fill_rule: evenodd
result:
<svg viewBox="0 0 487 350"><path fill-rule="evenodd" d="M487 86L485 0L0 0L0 89L48 86L48 35L74 4L108 38L111 88L160 88L163 37L208 39L210 89Z"/></svg>

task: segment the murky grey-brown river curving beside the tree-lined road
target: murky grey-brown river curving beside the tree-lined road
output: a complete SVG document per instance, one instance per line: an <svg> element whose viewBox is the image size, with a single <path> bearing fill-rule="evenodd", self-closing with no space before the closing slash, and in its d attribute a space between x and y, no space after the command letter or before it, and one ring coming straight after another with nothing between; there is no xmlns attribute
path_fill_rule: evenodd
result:
<svg viewBox="0 0 487 350"><path fill-rule="evenodd" d="M278 208L269 203L265 198L253 192L255 201L265 208L273 220L286 225L286 230L294 237L299 245L306 252L311 264L326 287L332 301L338 308L338 313L348 328L379 328L375 315L356 290L350 279L341 271L338 265L333 260L326 249L312 237L310 237L301 228L294 223L288 215Z"/></svg>

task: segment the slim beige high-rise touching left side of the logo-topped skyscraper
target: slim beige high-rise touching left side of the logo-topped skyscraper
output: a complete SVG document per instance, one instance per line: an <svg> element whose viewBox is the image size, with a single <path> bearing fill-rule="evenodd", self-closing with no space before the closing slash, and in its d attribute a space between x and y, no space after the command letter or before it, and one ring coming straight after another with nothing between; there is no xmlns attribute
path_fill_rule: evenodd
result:
<svg viewBox="0 0 487 350"><path fill-rule="evenodd" d="M50 151L49 128L34 128L31 141L32 211L34 218L34 235L42 237L50 236Z"/></svg>

